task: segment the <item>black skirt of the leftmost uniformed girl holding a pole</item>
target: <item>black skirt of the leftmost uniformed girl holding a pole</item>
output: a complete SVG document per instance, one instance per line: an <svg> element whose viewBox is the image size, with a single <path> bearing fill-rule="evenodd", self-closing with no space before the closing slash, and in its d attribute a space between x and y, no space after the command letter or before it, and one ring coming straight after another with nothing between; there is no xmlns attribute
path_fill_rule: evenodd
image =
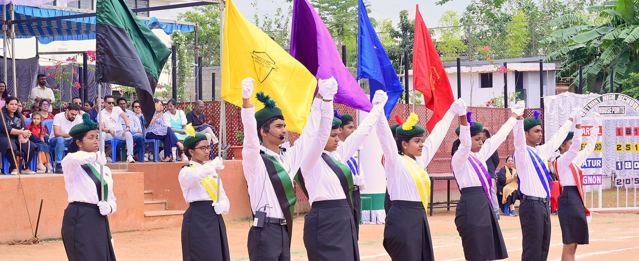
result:
<svg viewBox="0 0 639 261"><path fill-rule="evenodd" d="M115 261L106 216L96 204L71 202L62 218L62 242L69 261Z"/></svg>

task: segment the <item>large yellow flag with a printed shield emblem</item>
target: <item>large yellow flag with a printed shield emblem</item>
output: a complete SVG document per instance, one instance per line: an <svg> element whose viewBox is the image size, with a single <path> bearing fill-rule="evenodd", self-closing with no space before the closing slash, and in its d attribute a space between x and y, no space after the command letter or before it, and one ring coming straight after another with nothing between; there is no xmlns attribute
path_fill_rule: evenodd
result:
<svg viewBox="0 0 639 261"><path fill-rule="evenodd" d="M301 133L311 111L316 78L266 33L245 19L231 0L224 13L222 97L242 106L242 80L255 79L254 94L264 91L277 102L286 128ZM264 105L250 98L256 111Z"/></svg>

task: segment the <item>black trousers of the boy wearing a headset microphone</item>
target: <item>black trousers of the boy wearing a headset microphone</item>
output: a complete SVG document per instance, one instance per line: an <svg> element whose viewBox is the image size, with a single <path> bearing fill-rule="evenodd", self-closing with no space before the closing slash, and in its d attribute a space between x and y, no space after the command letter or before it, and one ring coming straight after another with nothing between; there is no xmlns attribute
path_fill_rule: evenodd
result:
<svg viewBox="0 0 639 261"><path fill-rule="evenodd" d="M268 223L263 228L250 227L247 246L251 261L291 260L291 246L286 225Z"/></svg>

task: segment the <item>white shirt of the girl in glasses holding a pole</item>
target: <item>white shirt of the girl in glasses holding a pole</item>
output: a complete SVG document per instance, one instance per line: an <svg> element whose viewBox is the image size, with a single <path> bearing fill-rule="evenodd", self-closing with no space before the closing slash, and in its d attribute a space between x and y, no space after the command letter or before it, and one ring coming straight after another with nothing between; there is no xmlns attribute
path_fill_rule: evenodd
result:
<svg viewBox="0 0 639 261"><path fill-rule="evenodd" d="M217 172L215 168L208 165L204 166L196 161L190 161L189 164L195 168L183 167L178 175L184 200L189 205L194 201L212 200L211 196L208 195L208 191L206 191L206 188L204 188L204 185L200 183L200 181L206 176L210 176L213 181L217 182ZM226 209L224 209L223 214L228 214L231 204L229 203L229 198L226 197L226 192L224 192L222 179L220 179L220 183L217 184L217 188L220 190L220 203L226 204ZM215 193L215 191L213 192Z"/></svg>

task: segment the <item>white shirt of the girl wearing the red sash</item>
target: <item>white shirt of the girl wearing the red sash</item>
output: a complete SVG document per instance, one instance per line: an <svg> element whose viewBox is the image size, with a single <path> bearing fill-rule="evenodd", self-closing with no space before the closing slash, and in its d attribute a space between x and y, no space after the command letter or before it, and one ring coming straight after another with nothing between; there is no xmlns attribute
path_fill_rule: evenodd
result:
<svg viewBox="0 0 639 261"><path fill-rule="evenodd" d="M581 168L581 165L588 160L588 157L595 149L595 145L599 139L597 133L590 133L588 144L586 144L586 147L582 151L579 151L581 149L582 133L583 129L574 131L573 145L570 145L568 151L557 159L557 175L559 176L559 184L561 184L562 187L577 186L570 164L574 163L578 169Z"/></svg>

